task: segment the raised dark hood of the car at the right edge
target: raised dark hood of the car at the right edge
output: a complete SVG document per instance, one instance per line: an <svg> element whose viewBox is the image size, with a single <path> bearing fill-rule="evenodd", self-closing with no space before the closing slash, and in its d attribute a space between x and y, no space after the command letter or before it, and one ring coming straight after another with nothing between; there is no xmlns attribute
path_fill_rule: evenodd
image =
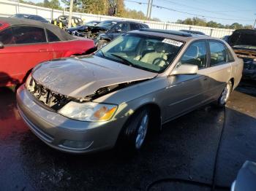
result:
<svg viewBox="0 0 256 191"><path fill-rule="evenodd" d="M229 37L228 43L231 47L236 45L256 46L256 30L239 29L233 32Z"/></svg>

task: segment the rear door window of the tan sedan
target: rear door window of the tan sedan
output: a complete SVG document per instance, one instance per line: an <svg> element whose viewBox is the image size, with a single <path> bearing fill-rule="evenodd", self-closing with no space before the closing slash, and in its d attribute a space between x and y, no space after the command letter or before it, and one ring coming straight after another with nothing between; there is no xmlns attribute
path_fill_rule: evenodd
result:
<svg viewBox="0 0 256 191"><path fill-rule="evenodd" d="M210 41L209 47L211 53L210 66L228 63L227 50L222 42Z"/></svg>

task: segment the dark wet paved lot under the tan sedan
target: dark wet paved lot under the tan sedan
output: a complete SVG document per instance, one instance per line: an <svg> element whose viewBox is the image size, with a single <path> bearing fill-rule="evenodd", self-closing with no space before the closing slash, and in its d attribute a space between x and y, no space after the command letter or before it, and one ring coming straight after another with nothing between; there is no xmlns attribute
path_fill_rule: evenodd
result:
<svg viewBox="0 0 256 191"><path fill-rule="evenodd" d="M130 157L51 149L20 119L10 89L0 89L0 109L0 190L145 190L164 178L149 190L209 190L190 182L212 183L223 127L216 185L229 187L245 160L256 161L256 87L247 83L233 92L226 109L205 106L179 117Z"/></svg>

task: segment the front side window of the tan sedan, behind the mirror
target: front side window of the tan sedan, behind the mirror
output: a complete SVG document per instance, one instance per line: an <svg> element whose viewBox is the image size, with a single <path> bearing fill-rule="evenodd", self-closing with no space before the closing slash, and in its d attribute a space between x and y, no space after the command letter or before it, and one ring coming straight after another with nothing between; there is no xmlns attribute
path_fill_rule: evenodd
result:
<svg viewBox="0 0 256 191"><path fill-rule="evenodd" d="M198 41L190 44L190 46L187 48L184 55L181 57L179 64L197 65L198 69L206 68L207 66L206 42Z"/></svg>

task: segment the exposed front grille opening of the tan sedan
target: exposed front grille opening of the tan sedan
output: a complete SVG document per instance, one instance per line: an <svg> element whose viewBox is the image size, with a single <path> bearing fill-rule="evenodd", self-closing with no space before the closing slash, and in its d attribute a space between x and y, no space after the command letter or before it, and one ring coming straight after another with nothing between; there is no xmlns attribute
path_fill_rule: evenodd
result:
<svg viewBox="0 0 256 191"><path fill-rule="evenodd" d="M34 79L31 79L30 85L32 87L29 88L29 92L34 95L37 101L54 111L58 111L70 101L68 96L54 93L48 88L39 85Z"/></svg>

